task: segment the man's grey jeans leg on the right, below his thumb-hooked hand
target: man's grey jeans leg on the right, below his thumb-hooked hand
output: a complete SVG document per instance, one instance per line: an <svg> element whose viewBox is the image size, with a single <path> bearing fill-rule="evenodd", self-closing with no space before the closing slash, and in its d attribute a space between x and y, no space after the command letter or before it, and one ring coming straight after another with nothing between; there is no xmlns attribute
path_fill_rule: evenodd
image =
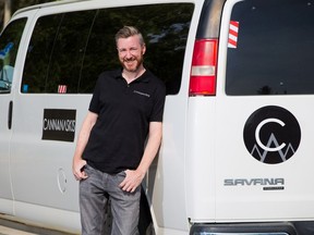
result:
<svg viewBox="0 0 314 235"><path fill-rule="evenodd" d="M121 172L110 178L110 200L112 211L111 235L137 235L141 186L134 193L123 191L119 184L124 180L125 173Z"/></svg>

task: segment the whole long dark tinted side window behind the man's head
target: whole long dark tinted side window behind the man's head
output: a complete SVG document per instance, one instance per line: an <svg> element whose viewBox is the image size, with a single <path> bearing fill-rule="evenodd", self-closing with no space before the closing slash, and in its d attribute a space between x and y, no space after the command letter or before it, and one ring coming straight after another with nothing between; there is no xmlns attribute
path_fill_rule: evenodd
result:
<svg viewBox="0 0 314 235"><path fill-rule="evenodd" d="M123 25L141 29L148 48L145 66L168 95L180 90L194 4L154 4L41 16L26 57L22 92L92 94L98 75L120 67L114 34Z"/></svg>

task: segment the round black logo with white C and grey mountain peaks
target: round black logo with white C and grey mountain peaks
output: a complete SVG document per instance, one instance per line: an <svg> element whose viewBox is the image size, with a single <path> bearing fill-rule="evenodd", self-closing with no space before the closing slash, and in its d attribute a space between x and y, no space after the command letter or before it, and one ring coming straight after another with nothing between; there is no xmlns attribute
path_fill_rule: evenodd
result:
<svg viewBox="0 0 314 235"><path fill-rule="evenodd" d="M250 115L243 138L247 151L256 160L277 164L297 152L301 129L291 112L281 107L268 106Z"/></svg>

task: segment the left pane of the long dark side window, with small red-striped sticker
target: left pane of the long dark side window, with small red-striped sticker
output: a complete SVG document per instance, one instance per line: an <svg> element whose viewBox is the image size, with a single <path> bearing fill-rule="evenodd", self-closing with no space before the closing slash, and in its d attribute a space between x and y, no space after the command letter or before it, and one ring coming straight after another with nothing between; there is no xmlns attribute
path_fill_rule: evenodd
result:
<svg viewBox="0 0 314 235"><path fill-rule="evenodd" d="M28 46L22 92L77 92L95 11L40 17Z"/></svg>

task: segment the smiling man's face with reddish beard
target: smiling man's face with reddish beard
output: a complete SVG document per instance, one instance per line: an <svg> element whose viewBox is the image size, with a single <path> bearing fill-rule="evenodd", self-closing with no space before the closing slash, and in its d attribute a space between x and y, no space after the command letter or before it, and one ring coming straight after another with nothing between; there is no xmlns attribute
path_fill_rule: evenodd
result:
<svg viewBox="0 0 314 235"><path fill-rule="evenodd" d="M119 60L124 70L136 72L143 63L145 46L141 46L137 35L129 38L119 38L117 41Z"/></svg>

